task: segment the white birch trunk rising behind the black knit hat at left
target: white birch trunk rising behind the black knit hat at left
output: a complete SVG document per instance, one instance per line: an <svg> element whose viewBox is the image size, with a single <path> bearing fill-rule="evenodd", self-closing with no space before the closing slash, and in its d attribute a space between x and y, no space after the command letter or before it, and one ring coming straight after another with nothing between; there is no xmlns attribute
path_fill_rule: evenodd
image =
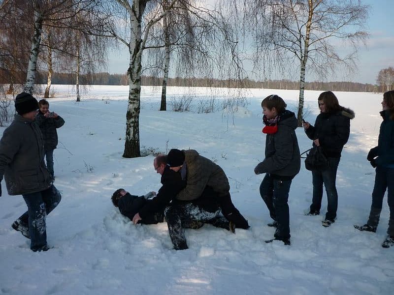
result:
<svg viewBox="0 0 394 295"><path fill-rule="evenodd" d="M42 33L42 13L40 11L34 10L34 35L32 40L32 49L30 51L29 65L26 75L26 82L24 91L28 93L33 92L35 74L37 71L37 59L39 53L39 47L41 43L41 33Z"/></svg>

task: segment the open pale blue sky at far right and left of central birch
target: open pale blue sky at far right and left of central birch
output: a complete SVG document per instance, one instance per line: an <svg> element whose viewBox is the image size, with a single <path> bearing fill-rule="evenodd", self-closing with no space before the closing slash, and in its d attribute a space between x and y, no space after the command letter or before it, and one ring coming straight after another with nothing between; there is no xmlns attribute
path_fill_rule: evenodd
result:
<svg viewBox="0 0 394 295"><path fill-rule="evenodd" d="M367 30L370 33L366 46L360 45L358 70L349 75L337 71L336 77L328 78L328 81L352 81L375 84L381 69L394 66L394 18L392 16L394 0L362 0L363 4L370 5ZM129 62L127 48L123 46L120 52L110 54L108 71L110 73L126 73ZM277 78L277 77L276 77ZM297 80L294 77L285 77ZM313 77L306 76L307 81L313 81Z"/></svg>

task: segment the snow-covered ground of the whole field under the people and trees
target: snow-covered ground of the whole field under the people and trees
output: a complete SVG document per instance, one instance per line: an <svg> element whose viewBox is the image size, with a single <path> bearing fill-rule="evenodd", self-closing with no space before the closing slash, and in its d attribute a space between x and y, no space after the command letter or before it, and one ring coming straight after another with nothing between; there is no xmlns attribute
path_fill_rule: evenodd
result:
<svg viewBox="0 0 394 295"><path fill-rule="evenodd" d="M234 116L227 112L159 112L160 88L143 87L140 140L147 150L196 149L219 164L230 179L231 197L249 220L236 234L211 225L186 230L189 249L172 250L165 223L134 226L112 206L120 187L132 194L160 188L153 155L122 158L128 87L95 86L76 103L67 86L53 86L50 110L66 124L58 130L56 187L63 199L47 218L48 252L34 253L30 240L11 228L26 209L21 196L0 198L0 294L139 294L139 295L363 295L394 294L394 248L384 249L389 210L387 199L375 234L353 224L366 222L374 170L366 161L377 144L381 94L336 92L341 105L356 113L338 168L338 216L329 228L320 216L304 216L312 198L312 177L301 163L293 180L289 205L292 245L264 243L274 229L259 194L263 175L253 172L264 157L262 99L279 94L294 110L294 90L250 89L250 103ZM193 93L198 101L219 89L168 88L168 102ZM306 91L306 120L314 124L320 91ZM168 109L170 109L168 103ZM4 127L0 128L1 132ZM300 150L311 146L296 130Z"/></svg>

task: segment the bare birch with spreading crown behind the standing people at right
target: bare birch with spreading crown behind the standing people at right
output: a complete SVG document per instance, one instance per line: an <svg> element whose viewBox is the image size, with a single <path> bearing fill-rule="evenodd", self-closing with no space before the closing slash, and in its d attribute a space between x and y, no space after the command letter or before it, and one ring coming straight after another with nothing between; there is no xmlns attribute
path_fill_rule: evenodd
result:
<svg viewBox="0 0 394 295"><path fill-rule="evenodd" d="M369 6L360 0L252 0L248 9L256 50L282 66L298 62L301 126L307 69L326 77L338 66L349 72L357 68L358 46L368 36L364 25ZM345 45L350 52L340 53Z"/></svg>

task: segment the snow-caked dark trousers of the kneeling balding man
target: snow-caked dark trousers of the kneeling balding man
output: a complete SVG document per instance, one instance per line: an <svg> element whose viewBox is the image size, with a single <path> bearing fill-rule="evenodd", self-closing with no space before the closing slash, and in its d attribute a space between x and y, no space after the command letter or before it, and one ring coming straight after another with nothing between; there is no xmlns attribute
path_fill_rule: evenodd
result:
<svg viewBox="0 0 394 295"><path fill-rule="evenodd" d="M185 237L185 227L191 227L191 220L206 223L215 219L219 214L219 207L217 207L216 211L211 212L206 210L203 206L192 203L174 204L166 207L164 215L174 249L179 250L188 248Z"/></svg>

